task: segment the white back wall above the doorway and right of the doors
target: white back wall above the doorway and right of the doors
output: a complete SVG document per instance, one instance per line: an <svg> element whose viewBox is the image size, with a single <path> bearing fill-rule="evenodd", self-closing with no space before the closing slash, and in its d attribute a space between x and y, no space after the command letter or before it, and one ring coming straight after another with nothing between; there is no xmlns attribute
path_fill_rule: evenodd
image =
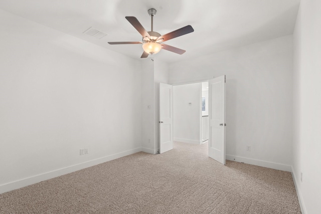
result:
<svg viewBox="0 0 321 214"><path fill-rule="evenodd" d="M170 64L170 84L225 74L227 157L291 170L292 57L289 35Z"/></svg>

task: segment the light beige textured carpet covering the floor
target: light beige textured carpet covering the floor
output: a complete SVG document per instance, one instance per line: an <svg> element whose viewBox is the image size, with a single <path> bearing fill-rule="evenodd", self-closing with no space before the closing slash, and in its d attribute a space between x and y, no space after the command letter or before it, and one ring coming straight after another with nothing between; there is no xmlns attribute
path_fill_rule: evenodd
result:
<svg viewBox="0 0 321 214"><path fill-rule="evenodd" d="M0 213L300 213L290 172L175 142L0 194Z"/></svg>

